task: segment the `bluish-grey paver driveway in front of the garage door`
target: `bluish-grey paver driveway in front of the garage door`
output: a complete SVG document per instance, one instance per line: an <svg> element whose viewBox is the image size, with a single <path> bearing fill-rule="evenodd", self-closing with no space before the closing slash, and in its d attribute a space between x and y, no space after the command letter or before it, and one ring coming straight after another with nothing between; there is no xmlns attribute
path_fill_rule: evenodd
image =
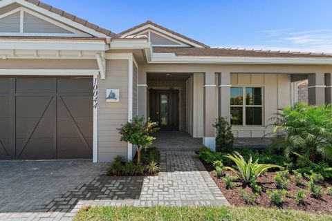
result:
<svg viewBox="0 0 332 221"><path fill-rule="evenodd" d="M1 161L0 220L8 216L19 220L22 216L32 217L33 212L48 212L50 202L91 182L106 167L107 164L93 164L91 160ZM75 202L72 200L71 204ZM56 209L57 213L66 211L68 205L62 206Z"/></svg>

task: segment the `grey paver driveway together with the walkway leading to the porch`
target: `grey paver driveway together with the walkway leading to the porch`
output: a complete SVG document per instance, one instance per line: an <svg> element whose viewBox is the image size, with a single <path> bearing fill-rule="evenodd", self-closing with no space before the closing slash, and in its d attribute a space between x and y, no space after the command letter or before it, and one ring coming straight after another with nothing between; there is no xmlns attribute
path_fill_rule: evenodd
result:
<svg viewBox="0 0 332 221"><path fill-rule="evenodd" d="M108 177L102 172L106 164L85 162L84 166L83 161L33 162L30 166L25 162L0 162L0 193L4 196L0 198L0 220L71 220L86 204L228 204L193 155L160 152L160 173L154 177ZM11 170L15 163L22 165ZM6 173L3 166L10 172Z"/></svg>

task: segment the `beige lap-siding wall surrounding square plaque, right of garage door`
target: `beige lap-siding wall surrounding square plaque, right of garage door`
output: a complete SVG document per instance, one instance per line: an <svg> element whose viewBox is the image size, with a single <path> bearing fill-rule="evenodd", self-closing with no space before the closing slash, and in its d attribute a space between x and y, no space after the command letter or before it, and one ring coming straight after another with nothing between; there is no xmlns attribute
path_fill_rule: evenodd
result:
<svg viewBox="0 0 332 221"><path fill-rule="evenodd" d="M128 121L128 60L107 60L106 79L98 79L98 162L127 158L128 144L116 128ZM120 89L120 102L106 102L106 89Z"/></svg>

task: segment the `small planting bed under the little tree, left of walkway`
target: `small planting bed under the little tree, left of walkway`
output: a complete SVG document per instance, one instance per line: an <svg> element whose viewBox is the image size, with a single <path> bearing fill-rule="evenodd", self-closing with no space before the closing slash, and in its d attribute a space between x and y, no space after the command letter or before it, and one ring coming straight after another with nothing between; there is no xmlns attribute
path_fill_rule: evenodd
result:
<svg viewBox="0 0 332 221"><path fill-rule="evenodd" d="M158 175L160 170L160 153L155 148L146 148L142 150L142 161L137 162L137 154L133 161L126 162L123 157L117 156L109 168L107 175L110 176L142 176Z"/></svg>

